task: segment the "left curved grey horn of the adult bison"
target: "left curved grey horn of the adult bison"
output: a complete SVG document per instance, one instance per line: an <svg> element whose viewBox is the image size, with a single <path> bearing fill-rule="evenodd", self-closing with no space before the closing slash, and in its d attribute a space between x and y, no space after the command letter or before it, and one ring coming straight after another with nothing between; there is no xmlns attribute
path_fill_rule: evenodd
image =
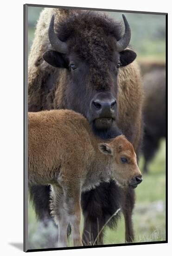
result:
<svg viewBox="0 0 172 256"><path fill-rule="evenodd" d="M54 32L54 15L51 17L50 26L48 29L48 36L53 49L61 54L67 53L67 44L58 39L57 34Z"/></svg>

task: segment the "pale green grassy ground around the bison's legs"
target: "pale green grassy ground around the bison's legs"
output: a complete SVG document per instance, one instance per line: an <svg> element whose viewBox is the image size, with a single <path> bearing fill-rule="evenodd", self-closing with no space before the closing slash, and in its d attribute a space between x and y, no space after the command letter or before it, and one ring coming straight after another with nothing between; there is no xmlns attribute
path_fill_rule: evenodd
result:
<svg viewBox="0 0 172 256"><path fill-rule="evenodd" d="M166 240L166 141L162 140L160 148L149 165L149 173L143 176L143 182L135 189L136 203L133 214L134 242L151 242ZM140 158L142 169L143 158ZM57 229L50 222L48 228L37 222L32 204L29 202L28 238L31 249L56 247ZM81 230L83 229L83 220ZM116 230L105 228L104 244L124 243L124 219L118 223ZM69 245L72 246L71 240Z"/></svg>

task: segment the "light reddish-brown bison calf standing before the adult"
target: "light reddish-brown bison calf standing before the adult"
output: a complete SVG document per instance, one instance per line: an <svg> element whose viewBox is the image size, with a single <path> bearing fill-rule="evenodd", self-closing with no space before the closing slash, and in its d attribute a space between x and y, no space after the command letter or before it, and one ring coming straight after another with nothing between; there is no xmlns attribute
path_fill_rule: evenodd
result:
<svg viewBox="0 0 172 256"><path fill-rule="evenodd" d="M74 246L81 246L82 191L115 179L128 186L141 176L132 144L124 135L103 141L72 110L28 113L29 185L51 184L51 213L59 227L58 246L67 246L70 222ZM127 163L121 162L121 157Z"/></svg>

